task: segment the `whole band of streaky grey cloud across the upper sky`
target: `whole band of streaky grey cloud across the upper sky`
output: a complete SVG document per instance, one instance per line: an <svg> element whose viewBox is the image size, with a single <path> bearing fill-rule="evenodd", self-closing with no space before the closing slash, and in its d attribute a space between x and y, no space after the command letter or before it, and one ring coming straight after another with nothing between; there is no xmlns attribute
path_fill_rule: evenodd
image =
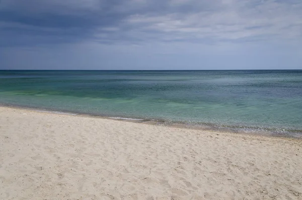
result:
<svg viewBox="0 0 302 200"><path fill-rule="evenodd" d="M2 0L0 45L301 41L299 0Z"/></svg>

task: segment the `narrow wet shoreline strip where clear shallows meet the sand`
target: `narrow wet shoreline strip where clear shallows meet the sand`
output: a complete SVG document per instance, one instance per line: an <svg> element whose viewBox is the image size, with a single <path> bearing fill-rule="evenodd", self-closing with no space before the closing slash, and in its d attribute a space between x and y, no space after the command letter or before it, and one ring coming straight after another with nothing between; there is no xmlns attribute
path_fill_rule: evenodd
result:
<svg viewBox="0 0 302 200"><path fill-rule="evenodd" d="M128 118L124 116L106 116L106 115L98 115L98 114L91 114L91 113L76 113L70 111L59 111L59 110L51 110L46 108L27 107L27 106L9 105L9 104L0 104L0 107L24 109L24 110L31 110L36 112L52 113L52 114L128 121L133 123L144 123L144 124L151 124L151 125L178 127L178 128L186 128L186 129L201 130L201 131L213 131L218 133L242 134L242 135L302 140L302 134L300 130L283 129L283 132L280 132L280 129L276 129L276 128L228 126L228 125L217 125L217 124L209 124L209 123L188 124L185 122L166 121L163 119L143 119L143 118Z"/></svg>

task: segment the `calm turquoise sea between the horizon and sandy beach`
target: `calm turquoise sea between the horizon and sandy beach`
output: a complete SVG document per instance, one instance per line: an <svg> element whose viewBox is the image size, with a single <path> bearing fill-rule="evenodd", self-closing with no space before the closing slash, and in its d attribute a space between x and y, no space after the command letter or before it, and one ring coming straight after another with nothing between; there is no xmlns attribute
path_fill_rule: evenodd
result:
<svg viewBox="0 0 302 200"><path fill-rule="evenodd" d="M302 137L302 71L0 71L0 104Z"/></svg>

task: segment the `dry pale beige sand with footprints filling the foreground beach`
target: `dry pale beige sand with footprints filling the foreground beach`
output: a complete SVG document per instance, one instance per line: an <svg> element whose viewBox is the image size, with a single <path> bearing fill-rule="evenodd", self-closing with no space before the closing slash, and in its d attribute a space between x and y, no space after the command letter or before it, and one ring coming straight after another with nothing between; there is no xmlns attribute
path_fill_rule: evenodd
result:
<svg viewBox="0 0 302 200"><path fill-rule="evenodd" d="M302 142L0 107L0 199L302 199Z"/></svg>

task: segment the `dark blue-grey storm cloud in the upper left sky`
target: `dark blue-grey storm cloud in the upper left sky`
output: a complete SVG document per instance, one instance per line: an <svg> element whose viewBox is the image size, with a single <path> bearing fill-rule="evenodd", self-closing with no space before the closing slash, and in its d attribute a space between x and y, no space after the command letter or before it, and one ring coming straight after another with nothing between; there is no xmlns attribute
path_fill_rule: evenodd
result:
<svg viewBox="0 0 302 200"><path fill-rule="evenodd" d="M35 0L2 1L0 40L2 44L14 45L87 39L94 34L95 29L117 25L124 17L123 14L110 12L113 5L105 1L94 1L88 6L85 1L78 1L77 4Z"/></svg>

